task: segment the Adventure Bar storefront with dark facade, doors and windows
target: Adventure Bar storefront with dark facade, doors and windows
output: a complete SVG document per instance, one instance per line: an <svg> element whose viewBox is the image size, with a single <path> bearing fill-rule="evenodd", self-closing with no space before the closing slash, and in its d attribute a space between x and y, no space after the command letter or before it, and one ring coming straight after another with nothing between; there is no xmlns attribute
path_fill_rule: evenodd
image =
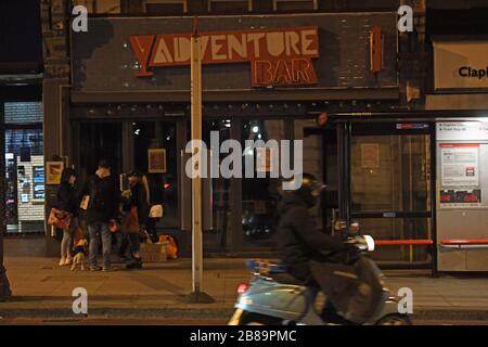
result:
<svg viewBox="0 0 488 347"><path fill-rule="evenodd" d="M243 147L246 140L304 140L304 171L328 182L328 205L316 215L329 228L338 178L335 150L326 143L336 134L312 129L321 113L399 102L396 14L203 16L197 28L204 141L211 131ZM146 172L152 202L165 207L157 230L175 235L183 254L191 252L183 151L192 30L192 17L91 17L88 33L72 33L67 145L60 153L81 180L101 158L114 175ZM244 151L243 162L254 155ZM207 185L205 250L269 253L277 179L213 178Z"/></svg>

